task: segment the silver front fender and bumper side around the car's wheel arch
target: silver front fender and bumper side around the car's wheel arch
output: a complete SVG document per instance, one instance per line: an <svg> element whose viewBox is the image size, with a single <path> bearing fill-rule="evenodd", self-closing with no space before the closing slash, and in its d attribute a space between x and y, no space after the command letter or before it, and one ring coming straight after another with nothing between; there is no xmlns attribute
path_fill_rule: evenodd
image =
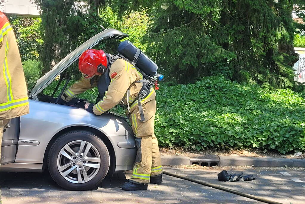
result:
<svg viewBox="0 0 305 204"><path fill-rule="evenodd" d="M43 163L45 151L53 137L73 127L89 127L98 130L110 141L116 156L117 170L119 166L133 165L135 137L123 119L109 114L96 116L81 108L42 101L29 100L29 104L30 114L22 116L20 120L15 163Z"/></svg>

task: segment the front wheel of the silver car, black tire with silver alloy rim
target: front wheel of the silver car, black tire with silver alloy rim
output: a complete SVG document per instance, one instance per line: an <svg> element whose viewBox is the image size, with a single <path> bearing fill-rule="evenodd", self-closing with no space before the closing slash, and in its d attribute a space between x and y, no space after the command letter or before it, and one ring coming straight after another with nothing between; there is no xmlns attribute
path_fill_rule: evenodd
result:
<svg viewBox="0 0 305 204"><path fill-rule="evenodd" d="M67 190L96 188L107 175L109 166L110 156L106 145L94 133L86 130L64 133L55 140L48 153L51 177Z"/></svg>

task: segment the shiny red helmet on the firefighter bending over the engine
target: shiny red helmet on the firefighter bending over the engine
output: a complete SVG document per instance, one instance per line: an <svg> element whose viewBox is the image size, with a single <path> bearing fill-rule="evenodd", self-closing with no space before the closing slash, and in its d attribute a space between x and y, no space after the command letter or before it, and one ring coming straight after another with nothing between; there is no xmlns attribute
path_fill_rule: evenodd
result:
<svg viewBox="0 0 305 204"><path fill-rule="evenodd" d="M78 69L85 78L103 74L107 68L107 58L103 50L87 49L78 60Z"/></svg>

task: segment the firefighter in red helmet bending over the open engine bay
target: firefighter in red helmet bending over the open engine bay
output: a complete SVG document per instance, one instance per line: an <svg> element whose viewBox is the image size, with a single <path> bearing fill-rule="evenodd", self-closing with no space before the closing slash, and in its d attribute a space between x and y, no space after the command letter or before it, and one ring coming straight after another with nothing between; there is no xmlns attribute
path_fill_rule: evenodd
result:
<svg viewBox="0 0 305 204"><path fill-rule="evenodd" d="M132 64L103 50L86 50L78 65L83 77L66 89L61 99L68 102L77 94L97 86L102 100L97 104L86 103L87 111L101 115L120 102L128 107L137 155L132 177L122 189L146 190L149 182L160 184L163 172L154 135L155 90L148 83L142 83L145 81L143 75ZM142 96L140 100L139 95Z"/></svg>

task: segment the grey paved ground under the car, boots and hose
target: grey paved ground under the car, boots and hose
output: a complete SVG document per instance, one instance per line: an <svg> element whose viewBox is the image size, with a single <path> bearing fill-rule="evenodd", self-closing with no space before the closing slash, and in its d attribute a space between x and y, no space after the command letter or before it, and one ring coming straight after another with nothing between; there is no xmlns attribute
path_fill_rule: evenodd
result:
<svg viewBox="0 0 305 204"><path fill-rule="evenodd" d="M165 170L182 175L199 178L214 184L221 184L228 188L244 191L249 194L263 196L282 203L304 203L305 183L291 179L299 178L305 181L305 170L299 169L234 169L244 173L257 173L258 178L247 182L221 182L217 180L217 173L225 168L209 169L179 169L164 167ZM230 172L230 171L229 171ZM289 173L284 176L280 172ZM284 173L285 174L285 173ZM131 173L126 173L128 179ZM52 180L45 173L4 173L0 172L2 201L7 203L261 203L225 191L194 184L179 178L163 176L160 185L149 184L147 191L122 191L125 174L107 177L101 186L92 191L67 191Z"/></svg>

